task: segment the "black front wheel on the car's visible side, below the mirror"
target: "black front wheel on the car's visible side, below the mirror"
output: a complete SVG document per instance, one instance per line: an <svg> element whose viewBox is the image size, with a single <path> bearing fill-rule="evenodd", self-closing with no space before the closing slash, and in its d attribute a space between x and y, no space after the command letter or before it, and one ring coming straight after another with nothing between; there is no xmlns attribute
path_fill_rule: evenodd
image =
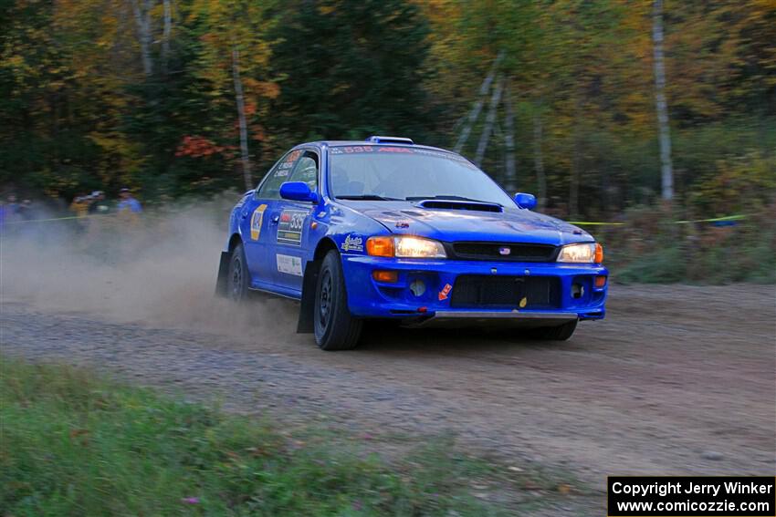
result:
<svg viewBox="0 0 776 517"><path fill-rule="evenodd" d="M313 319L315 342L321 350L351 350L358 345L363 322L348 310L340 254L333 250L320 264Z"/></svg>

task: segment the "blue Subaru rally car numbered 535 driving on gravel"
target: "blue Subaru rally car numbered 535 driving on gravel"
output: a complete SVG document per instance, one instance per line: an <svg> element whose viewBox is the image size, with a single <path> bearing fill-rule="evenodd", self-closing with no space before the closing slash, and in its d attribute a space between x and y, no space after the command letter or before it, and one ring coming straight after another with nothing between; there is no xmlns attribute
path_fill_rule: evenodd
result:
<svg viewBox="0 0 776 517"><path fill-rule="evenodd" d="M603 318L603 249L535 205L409 139L301 144L237 202L216 292L299 300L298 332L324 350L356 346L376 318L568 339Z"/></svg>

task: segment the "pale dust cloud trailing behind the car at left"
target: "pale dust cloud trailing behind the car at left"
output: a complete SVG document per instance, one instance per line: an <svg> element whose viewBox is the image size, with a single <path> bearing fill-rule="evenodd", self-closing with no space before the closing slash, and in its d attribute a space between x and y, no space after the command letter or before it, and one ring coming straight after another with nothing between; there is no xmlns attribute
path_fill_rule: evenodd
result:
<svg viewBox="0 0 776 517"><path fill-rule="evenodd" d="M295 305L218 298L215 277L235 197L166 207L137 220L9 224L0 239L0 302L121 323L246 336L293 332Z"/></svg>

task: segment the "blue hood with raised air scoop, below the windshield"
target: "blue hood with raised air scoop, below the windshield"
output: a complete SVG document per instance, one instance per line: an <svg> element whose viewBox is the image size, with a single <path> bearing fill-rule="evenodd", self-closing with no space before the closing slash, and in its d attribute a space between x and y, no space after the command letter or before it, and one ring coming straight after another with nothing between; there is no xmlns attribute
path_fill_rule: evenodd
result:
<svg viewBox="0 0 776 517"><path fill-rule="evenodd" d="M561 245L592 242L576 226L529 210L503 212L430 209L416 202L346 202L349 208L382 223L389 231L439 241L541 243Z"/></svg>

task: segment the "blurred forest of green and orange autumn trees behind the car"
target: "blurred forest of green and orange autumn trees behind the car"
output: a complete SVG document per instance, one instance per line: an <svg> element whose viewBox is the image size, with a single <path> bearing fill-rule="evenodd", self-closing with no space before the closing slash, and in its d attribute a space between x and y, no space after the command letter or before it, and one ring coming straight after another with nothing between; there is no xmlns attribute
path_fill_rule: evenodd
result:
<svg viewBox="0 0 776 517"><path fill-rule="evenodd" d="M9 0L0 182L66 198L131 184L146 200L241 188L302 140L453 147L482 102L464 154L547 212L609 219L660 195L653 6ZM776 5L663 13L675 206L757 212L776 177Z"/></svg>

